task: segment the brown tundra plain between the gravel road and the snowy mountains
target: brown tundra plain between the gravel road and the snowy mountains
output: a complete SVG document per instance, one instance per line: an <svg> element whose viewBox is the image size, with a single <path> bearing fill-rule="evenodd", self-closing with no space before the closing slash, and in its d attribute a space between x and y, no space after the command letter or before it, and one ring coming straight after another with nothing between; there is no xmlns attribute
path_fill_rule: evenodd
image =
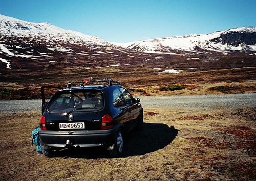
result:
<svg viewBox="0 0 256 181"><path fill-rule="evenodd" d="M42 85L65 88L69 81L83 81L88 77L119 80L138 96L232 94L256 90L256 55L157 56L158 59L148 61L129 59L115 67L105 66L118 65L121 60L108 57L95 65L101 68L90 69L85 60L77 58L75 62L63 59L63 66L45 64L40 70L33 66L3 69L0 70L0 99L38 99ZM68 63L70 66L66 66ZM163 71L166 69L180 73Z"/></svg>

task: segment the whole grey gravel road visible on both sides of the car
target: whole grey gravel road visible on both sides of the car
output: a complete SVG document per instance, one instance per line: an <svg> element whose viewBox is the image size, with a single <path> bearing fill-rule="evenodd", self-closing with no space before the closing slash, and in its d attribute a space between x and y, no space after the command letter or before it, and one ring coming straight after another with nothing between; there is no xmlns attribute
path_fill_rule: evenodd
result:
<svg viewBox="0 0 256 181"><path fill-rule="evenodd" d="M256 105L256 93L140 97L144 108L232 109ZM41 100L0 100L0 112L40 110Z"/></svg>

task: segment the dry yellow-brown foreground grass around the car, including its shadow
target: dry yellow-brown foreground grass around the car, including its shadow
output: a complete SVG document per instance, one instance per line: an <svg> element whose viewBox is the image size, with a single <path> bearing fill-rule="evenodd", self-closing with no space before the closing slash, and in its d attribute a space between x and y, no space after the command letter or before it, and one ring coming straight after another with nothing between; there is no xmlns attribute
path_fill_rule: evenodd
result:
<svg viewBox="0 0 256 181"><path fill-rule="evenodd" d="M124 157L101 148L47 158L31 146L40 111L0 113L1 180L255 180L255 107L232 111L144 108L144 131Z"/></svg>

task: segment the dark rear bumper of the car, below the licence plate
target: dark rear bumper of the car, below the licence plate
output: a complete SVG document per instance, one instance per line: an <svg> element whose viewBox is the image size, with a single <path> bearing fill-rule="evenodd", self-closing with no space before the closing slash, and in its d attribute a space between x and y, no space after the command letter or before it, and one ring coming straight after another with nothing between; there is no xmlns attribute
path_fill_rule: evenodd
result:
<svg viewBox="0 0 256 181"><path fill-rule="evenodd" d="M39 132L42 149L65 147L110 146L115 142L115 130L98 131L42 131ZM69 141L67 141L69 140ZM69 143L68 143L69 142ZM68 143L68 144L67 144Z"/></svg>

